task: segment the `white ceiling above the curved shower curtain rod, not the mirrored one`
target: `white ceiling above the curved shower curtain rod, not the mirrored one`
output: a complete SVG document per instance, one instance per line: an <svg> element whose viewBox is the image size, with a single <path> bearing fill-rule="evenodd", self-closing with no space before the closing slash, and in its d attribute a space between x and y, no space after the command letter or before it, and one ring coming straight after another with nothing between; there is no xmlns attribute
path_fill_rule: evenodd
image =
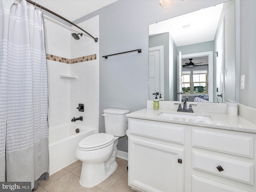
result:
<svg viewBox="0 0 256 192"><path fill-rule="evenodd" d="M67 20L74 21L117 0L32 0Z"/></svg>

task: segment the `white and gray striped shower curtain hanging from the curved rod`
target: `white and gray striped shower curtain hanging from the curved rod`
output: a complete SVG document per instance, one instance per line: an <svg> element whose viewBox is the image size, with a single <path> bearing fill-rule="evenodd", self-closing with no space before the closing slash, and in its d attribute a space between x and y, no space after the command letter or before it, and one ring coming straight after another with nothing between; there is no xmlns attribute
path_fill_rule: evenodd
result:
<svg viewBox="0 0 256 192"><path fill-rule="evenodd" d="M13 4L14 3L14 4ZM0 181L48 177L48 87L42 11L0 1Z"/></svg>

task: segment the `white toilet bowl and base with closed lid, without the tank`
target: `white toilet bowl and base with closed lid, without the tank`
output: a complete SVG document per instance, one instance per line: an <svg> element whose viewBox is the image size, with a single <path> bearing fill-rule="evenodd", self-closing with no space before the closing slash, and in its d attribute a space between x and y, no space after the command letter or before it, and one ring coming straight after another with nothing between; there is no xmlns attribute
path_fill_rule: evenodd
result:
<svg viewBox="0 0 256 192"><path fill-rule="evenodd" d="M79 181L81 186L93 187L116 170L117 143L118 137L106 133L94 134L79 142L76 158L83 162Z"/></svg>

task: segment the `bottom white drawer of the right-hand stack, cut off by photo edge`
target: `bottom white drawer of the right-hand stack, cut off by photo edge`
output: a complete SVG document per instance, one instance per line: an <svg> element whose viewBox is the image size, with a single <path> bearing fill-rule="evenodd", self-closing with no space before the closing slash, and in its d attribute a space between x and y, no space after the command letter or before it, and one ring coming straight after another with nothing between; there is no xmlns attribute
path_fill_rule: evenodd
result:
<svg viewBox="0 0 256 192"><path fill-rule="evenodd" d="M192 175L192 192L248 192L212 180Z"/></svg>

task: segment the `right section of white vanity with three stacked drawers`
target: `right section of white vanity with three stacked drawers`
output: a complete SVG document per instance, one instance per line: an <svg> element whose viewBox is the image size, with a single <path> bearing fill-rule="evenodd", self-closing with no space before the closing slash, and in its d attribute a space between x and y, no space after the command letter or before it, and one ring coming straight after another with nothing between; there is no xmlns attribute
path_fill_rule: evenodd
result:
<svg viewBox="0 0 256 192"><path fill-rule="evenodd" d="M255 134L192 126L192 192L256 191L254 139Z"/></svg>

